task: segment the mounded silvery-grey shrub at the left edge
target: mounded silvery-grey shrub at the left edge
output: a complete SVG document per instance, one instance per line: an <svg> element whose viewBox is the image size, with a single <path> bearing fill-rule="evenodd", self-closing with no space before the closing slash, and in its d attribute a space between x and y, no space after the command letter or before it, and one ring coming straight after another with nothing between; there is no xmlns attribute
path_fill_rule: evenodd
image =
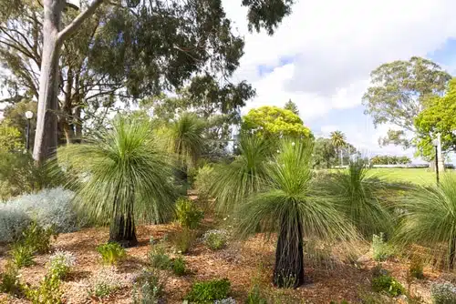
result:
<svg viewBox="0 0 456 304"><path fill-rule="evenodd" d="M18 238L32 218L40 227L55 228L56 233L78 230L81 223L73 208L73 197L73 192L57 187L0 204L0 242Z"/></svg>

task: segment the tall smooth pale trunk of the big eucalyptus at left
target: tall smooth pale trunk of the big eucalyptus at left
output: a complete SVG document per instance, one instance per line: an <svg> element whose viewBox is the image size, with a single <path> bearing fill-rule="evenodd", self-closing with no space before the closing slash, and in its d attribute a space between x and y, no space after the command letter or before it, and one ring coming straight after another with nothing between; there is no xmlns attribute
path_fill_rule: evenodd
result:
<svg viewBox="0 0 456 304"><path fill-rule="evenodd" d="M57 149L58 32L65 0L44 0L43 53L33 157L41 165Z"/></svg>

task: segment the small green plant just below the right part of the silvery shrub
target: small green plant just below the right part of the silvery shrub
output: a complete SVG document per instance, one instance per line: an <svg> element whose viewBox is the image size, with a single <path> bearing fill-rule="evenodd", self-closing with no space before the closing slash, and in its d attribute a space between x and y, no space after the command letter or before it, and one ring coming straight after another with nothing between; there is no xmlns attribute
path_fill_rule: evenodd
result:
<svg viewBox="0 0 456 304"><path fill-rule="evenodd" d="M47 253L51 248L51 237L57 238L55 228L42 228L35 221L23 232L19 242L37 253Z"/></svg>

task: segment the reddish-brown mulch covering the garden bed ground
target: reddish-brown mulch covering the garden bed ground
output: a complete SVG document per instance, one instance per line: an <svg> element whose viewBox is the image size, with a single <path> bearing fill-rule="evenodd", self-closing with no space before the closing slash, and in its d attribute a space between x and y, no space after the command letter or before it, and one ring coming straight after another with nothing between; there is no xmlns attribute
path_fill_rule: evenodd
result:
<svg viewBox="0 0 456 304"><path fill-rule="evenodd" d="M133 273L145 267L150 250L150 236L158 240L177 229L173 224L139 227L137 237L140 245L127 249L129 258L119 265L119 273L130 278ZM131 303L131 286L119 289L103 300L88 299L84 289L84 281L102 269L96 247L108 238L107 228L86 228L75 233L61 234L53 243L53 248L71 251L77 257L77 266L63 282L66 303ZM169 245L169 252L174 256L171 244ZM0 246L0 271L5 269L5 251L5 247ZM21 278L27 283L37 284L46 273L48 258L49 254L37 256L35 266L20 270ZM219 251L211 251L198 242L183 258L191 269L191 274L176 277L170 272L166 285L168 303L181 303L192 282L196 280L223 278L230 279L232 296L239 303L244 303L254 278L281 303L329 303L331 300L343 299L356 302L359 290L368 289L369 269L376 264L369 260L361 267L339 262L334 269L306 268L307 284L295 290L284 291L275 289L270 283L275 261L274 240L265 241L257 236L243 243L232 242ZM392 259L383 265L407 287L407 263ZM425 269L425 275L427 278L414 281L411 289L428 301L431 281L438 279L440 273ZM0 294L0 303L2 300L7 303L27 303L24 299L8 299L5 294Z"/></svg>

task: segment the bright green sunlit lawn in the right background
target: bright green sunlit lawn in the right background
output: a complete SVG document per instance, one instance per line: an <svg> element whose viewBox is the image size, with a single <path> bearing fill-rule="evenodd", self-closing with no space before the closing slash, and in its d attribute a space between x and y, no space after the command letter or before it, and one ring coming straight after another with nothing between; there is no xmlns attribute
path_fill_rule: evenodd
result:
<svg viewBox="0 0 456 304"><path fill-rule="evenodd" d="M456 174L455 172L454 169L447 169L444 174ZM368 174L391 182L409 182L416 185L431 185L436 182L435 172L427 168L372 168Z"/></svg>

